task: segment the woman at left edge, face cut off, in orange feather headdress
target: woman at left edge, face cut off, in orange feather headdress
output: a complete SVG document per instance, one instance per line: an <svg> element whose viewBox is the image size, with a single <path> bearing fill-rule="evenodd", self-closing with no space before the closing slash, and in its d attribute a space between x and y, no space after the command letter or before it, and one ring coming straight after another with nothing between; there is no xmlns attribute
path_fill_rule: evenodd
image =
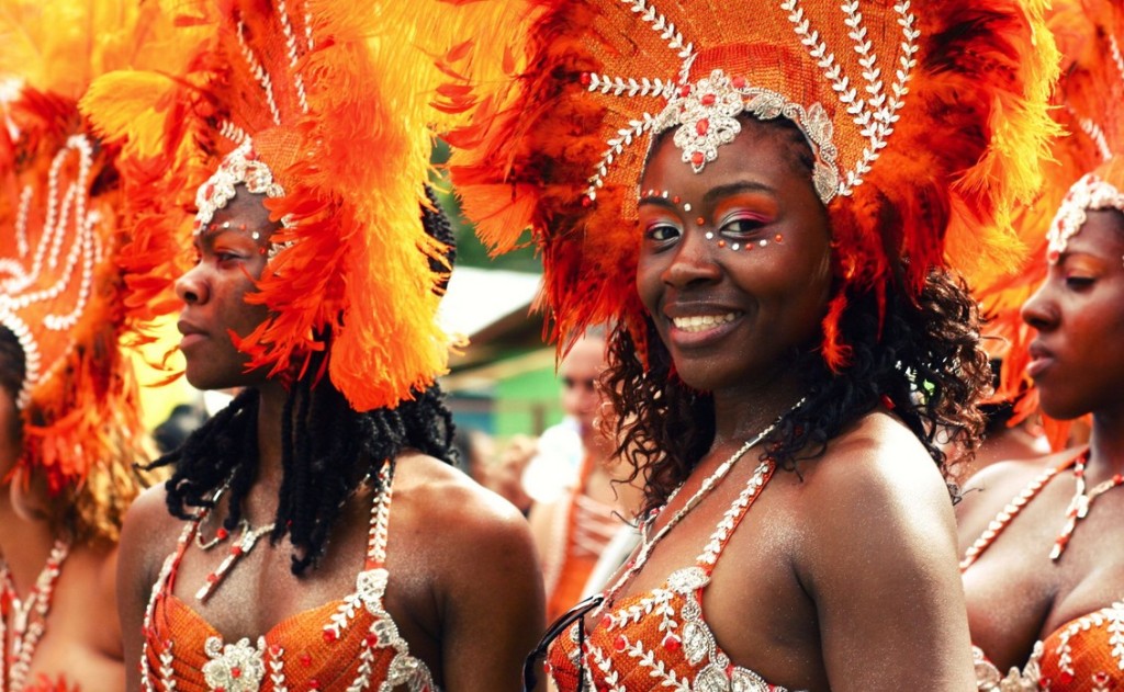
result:
<svg viewBox="0 0 1124 692"><path fill-rule="evenodd" d="M0 6L0 690L120 690L117 540L146 461L116 149L78 110L143 58L123 2Z"/></svg>

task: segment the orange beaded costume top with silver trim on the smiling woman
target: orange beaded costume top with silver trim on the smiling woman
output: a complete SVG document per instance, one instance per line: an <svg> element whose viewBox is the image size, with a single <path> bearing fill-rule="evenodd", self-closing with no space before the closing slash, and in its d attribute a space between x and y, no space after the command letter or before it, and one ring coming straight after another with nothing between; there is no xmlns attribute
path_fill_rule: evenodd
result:
<svg viewBox="0 0 1124 692"><path fill-rule="evenodd" d="M578 622L554 640L546 665L560 692L787 692L731 662L703 612L703 591L710 574L772 471L771 463L758 467L695 565L671 573L659 589L611 603L584 641L580 641Z"/></svg>

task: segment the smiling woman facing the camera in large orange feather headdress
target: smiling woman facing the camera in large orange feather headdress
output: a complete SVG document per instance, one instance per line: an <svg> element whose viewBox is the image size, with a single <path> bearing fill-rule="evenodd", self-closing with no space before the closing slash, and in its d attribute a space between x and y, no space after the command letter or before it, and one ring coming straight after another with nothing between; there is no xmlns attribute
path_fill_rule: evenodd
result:
<svg viewBox="0 0 1124 692"><path fill-rule="evenodd" d="M537 3L454 182L499 249L532 228L561 343L615 326L649 509L547 634L560 690L970 689L936 437L971 447L989 370L951 267L1009 252L1054 57L1006 0Z"/></svg>

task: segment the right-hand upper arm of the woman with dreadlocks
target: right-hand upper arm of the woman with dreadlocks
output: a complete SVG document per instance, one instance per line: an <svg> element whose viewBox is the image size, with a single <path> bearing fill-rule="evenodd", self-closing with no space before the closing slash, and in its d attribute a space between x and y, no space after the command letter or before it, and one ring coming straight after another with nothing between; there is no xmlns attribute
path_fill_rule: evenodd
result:
<svg viewBox="0 0 1124 692"><path fill-rule="evenodd" d="M463 511L450 536L460 564L442 589L444 686L514 692L544 627L542 575L526 520L498 499L487 504Z"/></svg>

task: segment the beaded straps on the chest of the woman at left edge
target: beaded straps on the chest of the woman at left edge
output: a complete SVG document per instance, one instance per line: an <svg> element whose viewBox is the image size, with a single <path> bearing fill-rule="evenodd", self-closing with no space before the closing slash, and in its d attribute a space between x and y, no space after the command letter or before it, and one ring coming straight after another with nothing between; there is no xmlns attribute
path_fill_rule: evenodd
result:
<svg viewBox="0 0 1124 692"><path fill-rule="evenodd" d="M20 600L16 595L16 586L11 581L8 564L0 561L0 589L2 600L11 607L11 648L9 649L11 670L7 680L0 675L0 692L19 692L27 684L27 674L31 670L31 657L47 630L47 614L54 597L55 583L62 573L63 562L70 555L70 541L56 540L47 557L35 586ZM8 636L7 618L0 618L0 641Z"/></svg>

